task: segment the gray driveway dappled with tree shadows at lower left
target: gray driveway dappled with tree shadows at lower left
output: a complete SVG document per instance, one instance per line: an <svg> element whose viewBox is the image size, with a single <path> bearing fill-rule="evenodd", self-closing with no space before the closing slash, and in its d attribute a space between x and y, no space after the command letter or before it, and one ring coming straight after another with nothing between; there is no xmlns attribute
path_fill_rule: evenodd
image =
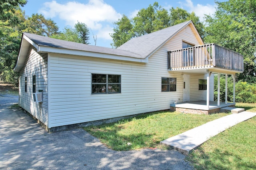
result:
<svg viewBox="0 0 256 170"><path fill-rule="evenodd" d="M18 96L0 94L0 169L188 170L174 150L114 151L81 128L46 132L20 109Z"/></svg>

